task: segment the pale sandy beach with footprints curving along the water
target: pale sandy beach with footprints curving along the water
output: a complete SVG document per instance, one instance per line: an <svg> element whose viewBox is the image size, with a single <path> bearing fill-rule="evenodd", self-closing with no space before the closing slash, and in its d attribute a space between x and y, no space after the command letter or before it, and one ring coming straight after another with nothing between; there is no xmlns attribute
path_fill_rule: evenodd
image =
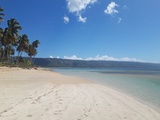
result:
<svg viewBox="0 0 160 120"><path fill-rule="evenodd" d="M0 120L160 120L160 113L82 78L0 67Z"/></svg>

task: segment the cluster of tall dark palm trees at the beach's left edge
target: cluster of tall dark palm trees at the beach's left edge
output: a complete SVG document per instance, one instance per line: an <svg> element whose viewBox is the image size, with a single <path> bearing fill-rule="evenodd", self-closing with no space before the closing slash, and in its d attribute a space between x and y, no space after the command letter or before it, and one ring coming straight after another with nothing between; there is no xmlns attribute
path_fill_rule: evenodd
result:
<svg viewBox="0 0 160 120"><path fill-rule="evenodd" d="M4 16L3 9L0 8L0 25L4 21ZM32 57L37 54L40 42L35 40L30 43L26 34L19 34L20 30L22 30L22 27L15 18L7 21L6 28L0 27L0 64L32 64ZM30 59L24 59L22 57L23 53L27 54L27 58Z"/></svg>

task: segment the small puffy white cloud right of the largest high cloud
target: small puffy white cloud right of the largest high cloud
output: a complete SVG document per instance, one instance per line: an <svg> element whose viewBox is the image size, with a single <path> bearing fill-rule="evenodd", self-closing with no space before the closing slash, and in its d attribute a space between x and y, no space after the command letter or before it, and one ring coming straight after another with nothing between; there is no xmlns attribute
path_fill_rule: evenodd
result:
<svg viewBox="0 0 160 120"><path fill-rule="evenodd" d="M108 14L108 15L113 15L115 13L119 13L119 11L115 9L115 7L118 7L118 4L116 4L115 2L111 2L107 6L107 8L104 10L104 13Z"/></svg>

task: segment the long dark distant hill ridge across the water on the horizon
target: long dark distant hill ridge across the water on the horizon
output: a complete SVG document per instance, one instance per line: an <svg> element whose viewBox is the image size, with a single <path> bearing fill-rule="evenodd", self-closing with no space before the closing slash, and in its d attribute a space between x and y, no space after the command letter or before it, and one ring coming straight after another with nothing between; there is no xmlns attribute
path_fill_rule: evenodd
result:
<svg viewBox="0 0 160 120"><path fill-rule="evenodd" d="M84 61L57 58L35 58L34 64L40 67L81 67L81 68L142 68L160 69L160 64L126 61Z"/></svg>

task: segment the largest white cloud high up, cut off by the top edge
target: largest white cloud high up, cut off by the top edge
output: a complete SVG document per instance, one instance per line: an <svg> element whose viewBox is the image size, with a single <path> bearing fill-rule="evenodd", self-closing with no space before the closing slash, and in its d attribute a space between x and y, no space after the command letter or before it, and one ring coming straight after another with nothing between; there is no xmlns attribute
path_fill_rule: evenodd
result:
<svg viewBox="0 0 160 120"><path fill-rule="evenodd" d="M85 23L87 18L82 17L82 12L90 7L91 4L97 2L97 0L66 0L67 8L70 13L75 13L79 22Z"/></svg>

